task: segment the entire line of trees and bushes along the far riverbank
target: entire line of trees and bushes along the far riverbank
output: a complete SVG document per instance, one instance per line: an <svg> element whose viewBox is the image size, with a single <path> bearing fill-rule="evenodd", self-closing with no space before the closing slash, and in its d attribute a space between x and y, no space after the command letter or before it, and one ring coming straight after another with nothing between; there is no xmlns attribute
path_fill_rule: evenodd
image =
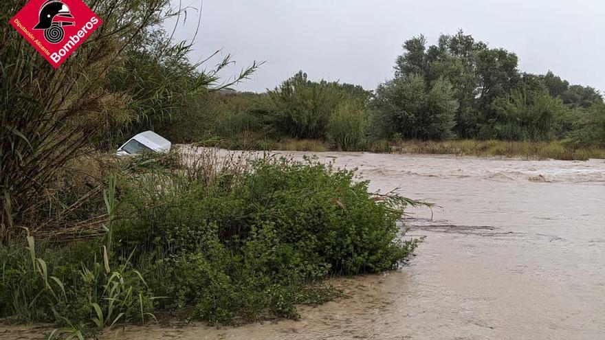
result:
<svg viewBox="0 0 605 340"><path fill-rule="evenodd" d="M284 141L311 139L322 148L371 151L389 151L393 145L384 144L402 140L518 141L531 150L541 150L529 147L536 142L556 142L578 150L573 157L598 155L588 149L605 147L597 90L570 85L551 71L524 73L515 54L462 31L431 46L423 36L406 41L394 78L375 91L311 81L301 71L267 93L216 93L210 103L179 120L208 121L219 113L229 128L206 124L186 141L266 150L299 149ZM166 133L179 140L171 127ZM550 155L561 154L531 156Z"/></svg>

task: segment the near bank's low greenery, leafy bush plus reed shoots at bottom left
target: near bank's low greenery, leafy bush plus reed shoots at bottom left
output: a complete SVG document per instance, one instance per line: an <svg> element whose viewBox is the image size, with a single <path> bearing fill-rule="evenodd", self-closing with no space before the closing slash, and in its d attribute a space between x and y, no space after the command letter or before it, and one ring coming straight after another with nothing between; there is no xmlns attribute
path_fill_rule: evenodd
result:
<svg viewBox="0 0 605 340"><path fill-rule="evenodd" d="M166 317L296 319L298 304L338 296L327 277L395 269L419 242L397 225L419 202L313 159L146 156L122 161L103 196L100 233L31 229L0 245L3 322L94 337Z"/></svg>

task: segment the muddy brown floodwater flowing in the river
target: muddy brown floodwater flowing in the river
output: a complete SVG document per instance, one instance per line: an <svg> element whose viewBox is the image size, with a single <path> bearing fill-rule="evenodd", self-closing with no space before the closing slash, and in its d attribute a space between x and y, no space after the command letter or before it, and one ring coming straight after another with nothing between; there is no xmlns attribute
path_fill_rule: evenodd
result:
<svg viewBox="0 0 605 340"><path fill-rule="evenodd" d="M303 152L294 152L302 157ZM322 152L412 211L426 236L401 270L336 280L349 298L298 321L128 326L103 339L605 339L605 161ZM36 330L0 327L0 339Z"/></svg>

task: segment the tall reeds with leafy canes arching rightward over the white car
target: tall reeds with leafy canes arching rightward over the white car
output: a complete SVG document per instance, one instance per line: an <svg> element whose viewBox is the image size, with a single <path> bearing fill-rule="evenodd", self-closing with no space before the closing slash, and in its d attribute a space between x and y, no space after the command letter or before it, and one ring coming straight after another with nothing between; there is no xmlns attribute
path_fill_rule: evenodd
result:
<svg viewBox="0 0 605 340"><path fill-rule="evenodd" d="M191 45L175 43L157 27L184 15L169 0L100 0L91 9L103 18L77 58L56 71L9 27L25 0L0 5L0 240L17 226L36 225L41 206L53 204L54 180L83 146L102 150L124 135L166 122L200 91L223 89L248 78L258 64L230 82L190 63ZM35 218L32 218L35 217Z"/></svg>

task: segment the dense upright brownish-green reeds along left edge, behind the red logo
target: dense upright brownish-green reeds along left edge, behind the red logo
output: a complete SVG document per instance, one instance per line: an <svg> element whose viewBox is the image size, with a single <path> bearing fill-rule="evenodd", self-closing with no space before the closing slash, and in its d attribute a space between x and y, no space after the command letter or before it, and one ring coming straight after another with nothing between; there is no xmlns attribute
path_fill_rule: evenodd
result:
<svg viewBox="0 0 605 340"><path fill-rule="evenodd" d="M100 128L98 115L120 100L104 91L107 72L147 27L162 22L167 0L95 1L104 25L78 55L54 71L9 27L27 1L0 5L0 238L35 215L58 171Z"/></svg>

